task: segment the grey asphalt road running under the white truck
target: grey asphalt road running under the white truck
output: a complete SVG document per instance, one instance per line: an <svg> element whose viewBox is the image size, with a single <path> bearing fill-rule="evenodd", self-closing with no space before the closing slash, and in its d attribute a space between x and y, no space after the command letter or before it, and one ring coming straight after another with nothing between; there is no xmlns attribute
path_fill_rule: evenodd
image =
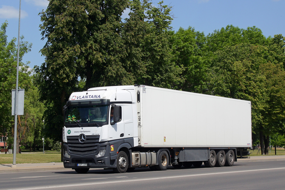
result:
<svg viewBox="0 0 285 190"><path fill-rule="evenodd" d="M74 170L2 173L0 189L114 189L114 190L204 190L270 189L284 190L285 161L243 162L232 167L168 167L166 171L137 168L128 173L90 169L86 174Z"/></svg>

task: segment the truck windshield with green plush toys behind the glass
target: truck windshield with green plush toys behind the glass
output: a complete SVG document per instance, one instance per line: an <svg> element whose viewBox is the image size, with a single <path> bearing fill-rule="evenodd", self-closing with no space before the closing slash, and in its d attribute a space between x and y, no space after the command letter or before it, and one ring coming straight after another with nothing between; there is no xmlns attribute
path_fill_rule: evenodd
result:
<svg viewBox="0 0 285 190"><path fill-rule="evenodd" d="M107 122L108 105L68 106L65 123Z"/></svg>

